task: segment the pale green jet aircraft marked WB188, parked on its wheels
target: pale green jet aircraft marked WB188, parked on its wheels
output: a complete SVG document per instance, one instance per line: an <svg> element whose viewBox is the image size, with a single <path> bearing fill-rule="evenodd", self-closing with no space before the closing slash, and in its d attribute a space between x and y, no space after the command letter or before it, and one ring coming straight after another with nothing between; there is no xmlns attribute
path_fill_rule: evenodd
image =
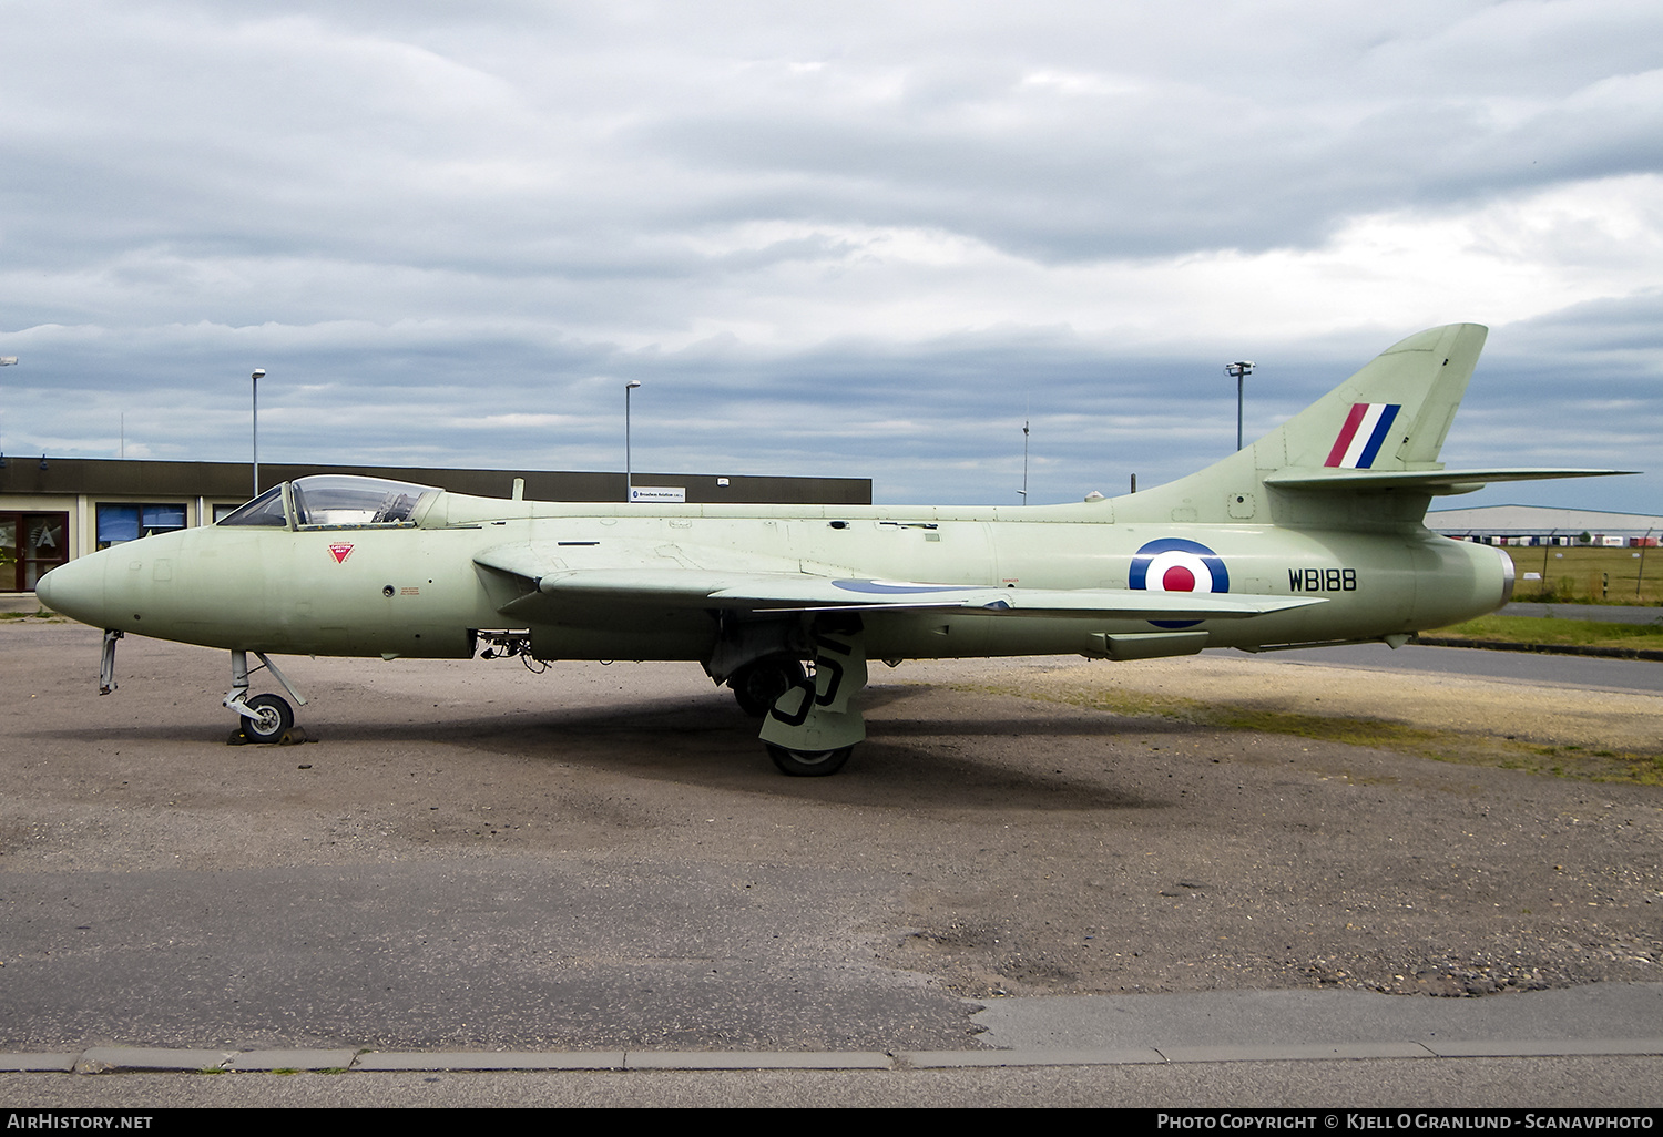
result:
<svg viewBox="0 0 1663 1137"><path fill-rule="evenodd" d="M1410 336L1252 445L1141 494L1071 505L665 505L487 499L364 477L276 485L211 527L53 568L38 595L105 628L248 653L695 660L762 716L788 775L865 738L866 660L1113 660L1384 640L1507 602L1505 554L1438 537L1435 494L1620 470L1447 470L1485 329ZM805 672L803 663L810 665Z"/></svg>

